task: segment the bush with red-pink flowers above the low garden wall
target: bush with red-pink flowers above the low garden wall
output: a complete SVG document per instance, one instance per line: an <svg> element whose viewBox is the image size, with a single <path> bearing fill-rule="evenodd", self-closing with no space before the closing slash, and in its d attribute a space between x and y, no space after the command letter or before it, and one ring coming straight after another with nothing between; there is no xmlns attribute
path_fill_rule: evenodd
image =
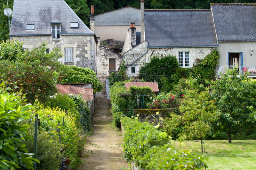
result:
<svg viewBox="0 0 256 170"><path fill-rule="evenodd" d="M173 95L171 92L169 93L160 93L157 96L154 96L154 98L151 98L152 101L148 103L148 108L151 109L167 109L167 108L173 108L173 107L179 107L181 104L183 104L183 96L181 96L181 99Z"/></svg>

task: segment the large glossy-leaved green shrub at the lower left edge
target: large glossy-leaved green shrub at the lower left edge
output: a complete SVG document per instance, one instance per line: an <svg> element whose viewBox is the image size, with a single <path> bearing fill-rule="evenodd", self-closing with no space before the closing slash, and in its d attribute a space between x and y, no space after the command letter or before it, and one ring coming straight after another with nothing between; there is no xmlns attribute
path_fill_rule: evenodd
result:
<svg viewBox="0 0 256 170"><path fill-rule="evenodd" d="M20 92L8 93L4 82L0 85L0 168L33 169L33 154L28 153L24 139L30 138L27 134L28 124L21 125L29 118L28 109L31 104L23 106L24 96Z"/></svg>

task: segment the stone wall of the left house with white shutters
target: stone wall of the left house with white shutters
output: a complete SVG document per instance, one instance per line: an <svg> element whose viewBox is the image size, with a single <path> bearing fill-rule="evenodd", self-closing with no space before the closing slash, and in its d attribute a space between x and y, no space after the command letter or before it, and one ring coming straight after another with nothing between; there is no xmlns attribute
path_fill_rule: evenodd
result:
<svg viewBox="0 0 256 170"><path fill-rule="evenodd" d="M43 41L46 41L47 48L50 52L55 47L60 48L62 57L59 61L67 65L75 65L82 68L91 69L91 35L60 35L60 39L52 39L52 36L16 36L13 40L23 41L23 48L28 48L31 51L33 48L39 46ZM96 44L92 36L92 56L94 56L94 49ZM64 48L74 48L74 63L64 63ZM95 52L96 54L96 52ZM94 57L92 57L92 70L95 68Z"/></svg>

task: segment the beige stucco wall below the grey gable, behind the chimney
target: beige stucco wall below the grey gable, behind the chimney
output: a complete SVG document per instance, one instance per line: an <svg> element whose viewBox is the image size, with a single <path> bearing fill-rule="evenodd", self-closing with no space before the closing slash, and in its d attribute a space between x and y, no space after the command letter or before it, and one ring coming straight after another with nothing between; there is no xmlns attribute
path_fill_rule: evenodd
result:
<svg viewBox="0 0 256 170"><path fill-rule="evenodd" d="M140 26L135 26L140 31ZM130 26L95 26L95 32L100 40L113 39L116 41L125 41L126 33Z"/></svg>

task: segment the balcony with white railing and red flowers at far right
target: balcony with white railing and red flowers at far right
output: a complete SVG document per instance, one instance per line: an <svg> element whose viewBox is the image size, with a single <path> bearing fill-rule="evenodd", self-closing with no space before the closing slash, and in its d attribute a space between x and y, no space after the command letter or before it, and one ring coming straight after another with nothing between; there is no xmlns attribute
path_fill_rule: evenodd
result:
<svg viewBox="0 0 256 170"><path fill-rule="evenodd" d="M219 66L217 75L218 78L221 78L221 75L224 74L228 69L238 68L238 76L245 72L249 72L249 77L256 77L256 65L222 65Z"/></svg>

